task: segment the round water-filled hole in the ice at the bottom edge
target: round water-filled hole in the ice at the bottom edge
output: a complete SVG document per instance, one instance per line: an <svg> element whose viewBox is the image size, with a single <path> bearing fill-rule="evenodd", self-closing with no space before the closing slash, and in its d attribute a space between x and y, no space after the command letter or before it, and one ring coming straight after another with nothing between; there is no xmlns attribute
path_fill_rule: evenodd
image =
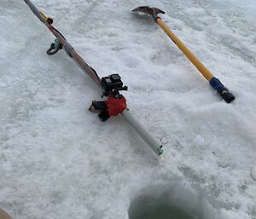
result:
<svg viewBox="0 0 256 219"><path fill-rule="evenodd" d="M191 187L147 187L132 200L130 219L212 219L212 206Z"/></svg>

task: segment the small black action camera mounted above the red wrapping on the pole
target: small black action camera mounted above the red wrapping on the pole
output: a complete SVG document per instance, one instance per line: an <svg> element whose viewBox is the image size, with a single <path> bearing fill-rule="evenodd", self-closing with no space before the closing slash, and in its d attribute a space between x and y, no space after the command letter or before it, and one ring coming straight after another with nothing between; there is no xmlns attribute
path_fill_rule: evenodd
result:
<svg viewBox="0 0 256 219"><path fill-rule="evenodd" d="M127 86L123 86L119 74L111 74L108 77L102 78L101 84L103 88L102 96L119 95L120 90L128 90Z"/></svg>

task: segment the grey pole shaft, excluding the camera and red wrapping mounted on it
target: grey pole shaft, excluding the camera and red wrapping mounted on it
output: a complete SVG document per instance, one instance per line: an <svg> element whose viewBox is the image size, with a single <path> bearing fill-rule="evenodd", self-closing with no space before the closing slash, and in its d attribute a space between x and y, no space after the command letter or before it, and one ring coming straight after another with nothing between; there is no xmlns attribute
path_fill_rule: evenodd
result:
<svg viewBox="0 0 256 219"><path fill-rule="evenodd" d="M67 43L67 40L65 39L65 37L63 37L61 32L57 31L55 27L52 26L53 20L49 17L46 17L42 12L40 12L30 0L24 1L29 6L29 8L32 9L32 12L36 14L38 19L41 20L49 28L49 30L55 35L55 37L57 37L57 39L62 44L63 49L65 49L67 55L79 65L79 67L83 70L84 73L89 74L90 78L92 78L95 81L95 83L100 88L102 88L101 78L98 77L96 71L86 64L86 62L76 52L76 50L73 49L71 44ZM125 111L122 112L121 115L131 125L131 127L137 131L137 133L143 138L143 140L148 143L148 146L151 147L154 153L160 155L161 153L164 152L160 143L154 139L154 137L148 132L148 130L143 128L142 124L140 124L135 118L133 118L129 109L125 109Z"/></svg>

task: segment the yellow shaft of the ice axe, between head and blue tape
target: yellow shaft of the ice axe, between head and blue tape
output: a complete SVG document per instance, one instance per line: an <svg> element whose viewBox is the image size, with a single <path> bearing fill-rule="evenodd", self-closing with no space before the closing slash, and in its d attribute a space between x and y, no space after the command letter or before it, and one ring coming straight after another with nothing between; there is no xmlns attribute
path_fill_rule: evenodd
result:
<svg viewBox="0 0 256 219"><path fill-rule="evenodd" d="M201 72L201 74L210 81L214 76L206 66L204 66L201 61L199 61L193 53L184 45L183 42L166 26L166 24L158 18L156 20L157 24L166 32L166 34L171 37L172 41L177 44L177 47L183 51L183 54L186 55L194 66Z"/></svg>

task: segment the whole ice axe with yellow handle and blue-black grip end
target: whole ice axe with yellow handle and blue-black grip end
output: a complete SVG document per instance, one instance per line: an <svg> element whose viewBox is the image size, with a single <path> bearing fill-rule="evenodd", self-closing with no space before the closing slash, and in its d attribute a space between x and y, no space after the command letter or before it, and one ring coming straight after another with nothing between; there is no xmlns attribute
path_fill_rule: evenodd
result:
<svg viewBox="0 0 256 219"><path fill-rule="evenodd" d="M137 9L133 9L133 12L143 12L146 14L152 15L154 21L166 32L166 34L172 39L172 41L177 45L177 47L186 55L193 63L193 65L201 72L201 74L209 81L212 88L217 90L218 94L226 101L230 103L235 100L235 96L230 93L228 89L224 87L218 78L215 78L206 66L204 66L201 61L196 58L196 56L185 46L185 44L170 30L168 26L160 19L158 14L165 14L164 11L156 8L150 8L148 6L138 7Z"/></svg>

